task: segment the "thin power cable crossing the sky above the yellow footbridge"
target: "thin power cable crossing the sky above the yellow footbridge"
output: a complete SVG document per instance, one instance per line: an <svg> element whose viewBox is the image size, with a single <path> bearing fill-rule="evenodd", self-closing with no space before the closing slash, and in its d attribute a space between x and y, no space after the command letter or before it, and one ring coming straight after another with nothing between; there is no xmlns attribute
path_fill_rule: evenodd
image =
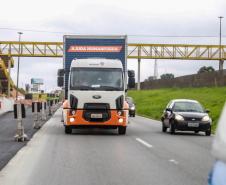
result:
<svg viewBox="0 0 226 185"><path fill-rule="evenodd" d="M78 35L88 35L85 33L74 33L74 32L60 32L60 31L44 31L44 30L29 30L29 29L18 29L18 28L1 28L2 30L20 30L20 31L28 31L28 32L41 32L41 33L56 33L56 34L78 34ZM95 34L93 34L95 35ZM130 37L219 37L219 35L128 35ZM226 37L226 35L222 35L222 37Z"/></svg>

